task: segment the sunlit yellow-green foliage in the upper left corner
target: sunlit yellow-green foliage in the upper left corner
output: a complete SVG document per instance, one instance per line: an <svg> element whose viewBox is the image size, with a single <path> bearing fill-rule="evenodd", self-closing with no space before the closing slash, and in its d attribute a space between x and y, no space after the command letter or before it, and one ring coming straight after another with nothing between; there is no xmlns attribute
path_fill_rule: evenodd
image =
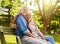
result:
<svg viewBox="0 0 60 44"><path fill-rule="evenodd" d="M19 0L3 0L1 6L10 9L10 15L14 16L16 13L20 11L22 3Z"/></svg>

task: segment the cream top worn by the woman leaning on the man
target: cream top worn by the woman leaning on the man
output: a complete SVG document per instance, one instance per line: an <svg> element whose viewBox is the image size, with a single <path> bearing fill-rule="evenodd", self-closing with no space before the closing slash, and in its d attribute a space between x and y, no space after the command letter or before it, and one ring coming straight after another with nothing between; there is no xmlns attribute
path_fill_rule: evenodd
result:
<svg viewBox="0 0 60 44"><path fill-rule="evenodd" d="M42 33L40 32L40 30L38 29L38 26L37 26L37 24L36 24L35 21L31 21L31 22L29 23L29 27L30 27L32 33L33 33L35 36L39 36L39 34L41 34L41 35L43 36L43 34L42 34Z"/></svg>

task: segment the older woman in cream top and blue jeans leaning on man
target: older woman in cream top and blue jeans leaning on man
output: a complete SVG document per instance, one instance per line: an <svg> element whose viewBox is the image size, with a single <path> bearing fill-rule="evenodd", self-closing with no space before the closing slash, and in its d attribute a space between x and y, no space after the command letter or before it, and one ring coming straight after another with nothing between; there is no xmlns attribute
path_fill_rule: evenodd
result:
<svg viewBox="0 0 60 44"><path fill-rule="evenodd" d="M41 33L40 29L38 28L38 26L36 24L36 21L32 20L31 14L28 14L28 22L29 22L28 26L29 26L30 30L32 31L32 34L34 36L36 36L36 38L38 40L43 39L43 40L49 41L51 44L54 44L54 39L52 36L44 36Z"/></svg>

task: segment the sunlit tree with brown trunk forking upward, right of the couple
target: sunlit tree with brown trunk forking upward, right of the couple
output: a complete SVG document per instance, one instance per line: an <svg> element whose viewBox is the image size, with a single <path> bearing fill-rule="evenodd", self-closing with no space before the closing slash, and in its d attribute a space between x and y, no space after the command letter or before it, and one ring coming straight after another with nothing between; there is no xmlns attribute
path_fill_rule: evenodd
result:
<svg viewBox="0 0 60 44"><path fill-rule="evenodd" d="M28 1L26 0L26 2ZM43 34L46 34L47 26L51 24L51 20L54 18L55 13L59 9L59 7L57 6L58 3L59 0L48 0L48 2L47 0L34 0L34 3L32 2L32 0L30 0L30 2L27 4L30 6L34 4L35 5L34 7L36 7L36 5L38 6L39 11L36 10L38 11L36 16L38 16L39 14L43 20L43 28L42 28ZM36 13L35 10L33 12Z"/></svg>

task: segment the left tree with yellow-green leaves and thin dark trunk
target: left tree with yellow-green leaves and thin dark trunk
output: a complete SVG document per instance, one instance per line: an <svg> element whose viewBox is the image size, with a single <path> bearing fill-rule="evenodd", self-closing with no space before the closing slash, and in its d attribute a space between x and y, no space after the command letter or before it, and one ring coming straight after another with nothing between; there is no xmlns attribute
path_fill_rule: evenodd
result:
<svg viewBox="0 0 60 44"><path fill-rule="evenodd" d="M10 26L10 21L11 21L11 16L14 16L16 15L18 12L20 12L20 6L22 5L21 1L20 0L2 0L0 1L0 5L1 5L1 8L6 8L8 9L7 11L7 25ZM6 15L6 14L3 14L2 13L2 16L3 15ZM6 24L6 23L5 23Z"/></svg>

